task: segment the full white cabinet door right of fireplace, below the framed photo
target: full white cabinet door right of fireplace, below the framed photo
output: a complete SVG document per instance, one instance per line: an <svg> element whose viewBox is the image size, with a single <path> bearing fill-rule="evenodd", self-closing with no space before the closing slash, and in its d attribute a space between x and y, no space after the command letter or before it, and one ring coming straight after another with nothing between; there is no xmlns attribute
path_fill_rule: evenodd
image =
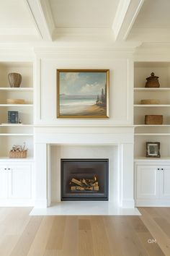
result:
<svg viewBox="0 0 170 256"><path fill-rule="evenodd" d="M137 166L137 199L156 199L159 197L158 166Z"/></svg>

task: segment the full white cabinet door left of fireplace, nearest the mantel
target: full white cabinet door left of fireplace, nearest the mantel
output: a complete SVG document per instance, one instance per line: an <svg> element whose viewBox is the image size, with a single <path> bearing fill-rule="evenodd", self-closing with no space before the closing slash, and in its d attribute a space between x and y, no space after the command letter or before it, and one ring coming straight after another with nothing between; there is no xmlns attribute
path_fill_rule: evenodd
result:
<svg viewBox="0 0 170 256"><path fill-rule="evenodd" d="M9 174L9 197L30 198L31 165L12 165Z"/></svg>

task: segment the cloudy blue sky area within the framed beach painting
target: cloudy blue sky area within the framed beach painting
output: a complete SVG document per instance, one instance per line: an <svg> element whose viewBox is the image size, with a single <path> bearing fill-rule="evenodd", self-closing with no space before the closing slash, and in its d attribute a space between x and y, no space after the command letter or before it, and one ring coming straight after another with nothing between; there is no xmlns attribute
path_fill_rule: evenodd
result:
<svg viewBox="0 0 170 256"><path fill-rule="evenodd" d="M60 72L60 94L97 95L105 88L105 72Z"/></svg>

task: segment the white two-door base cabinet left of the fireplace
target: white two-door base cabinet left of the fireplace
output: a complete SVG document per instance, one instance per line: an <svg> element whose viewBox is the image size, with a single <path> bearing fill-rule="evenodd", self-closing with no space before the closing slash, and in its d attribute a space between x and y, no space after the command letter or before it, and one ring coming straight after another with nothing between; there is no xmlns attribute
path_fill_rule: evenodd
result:
<svg viewBox="0 0 170 256"><path fill-rule="evenodd" d="M0 163L0 205L33 206L33 163Z"/></svg>

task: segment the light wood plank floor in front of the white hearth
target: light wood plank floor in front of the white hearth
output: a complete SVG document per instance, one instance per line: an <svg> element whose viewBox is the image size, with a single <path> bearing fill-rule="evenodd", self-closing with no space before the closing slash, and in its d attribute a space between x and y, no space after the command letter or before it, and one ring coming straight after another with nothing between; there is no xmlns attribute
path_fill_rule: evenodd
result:
<svg viewBox="0 0 170 256"><path fill-rule="evenodd" d="M170 208L142 216L28 216L0 208L1 256L170 256Z"/></svg>

